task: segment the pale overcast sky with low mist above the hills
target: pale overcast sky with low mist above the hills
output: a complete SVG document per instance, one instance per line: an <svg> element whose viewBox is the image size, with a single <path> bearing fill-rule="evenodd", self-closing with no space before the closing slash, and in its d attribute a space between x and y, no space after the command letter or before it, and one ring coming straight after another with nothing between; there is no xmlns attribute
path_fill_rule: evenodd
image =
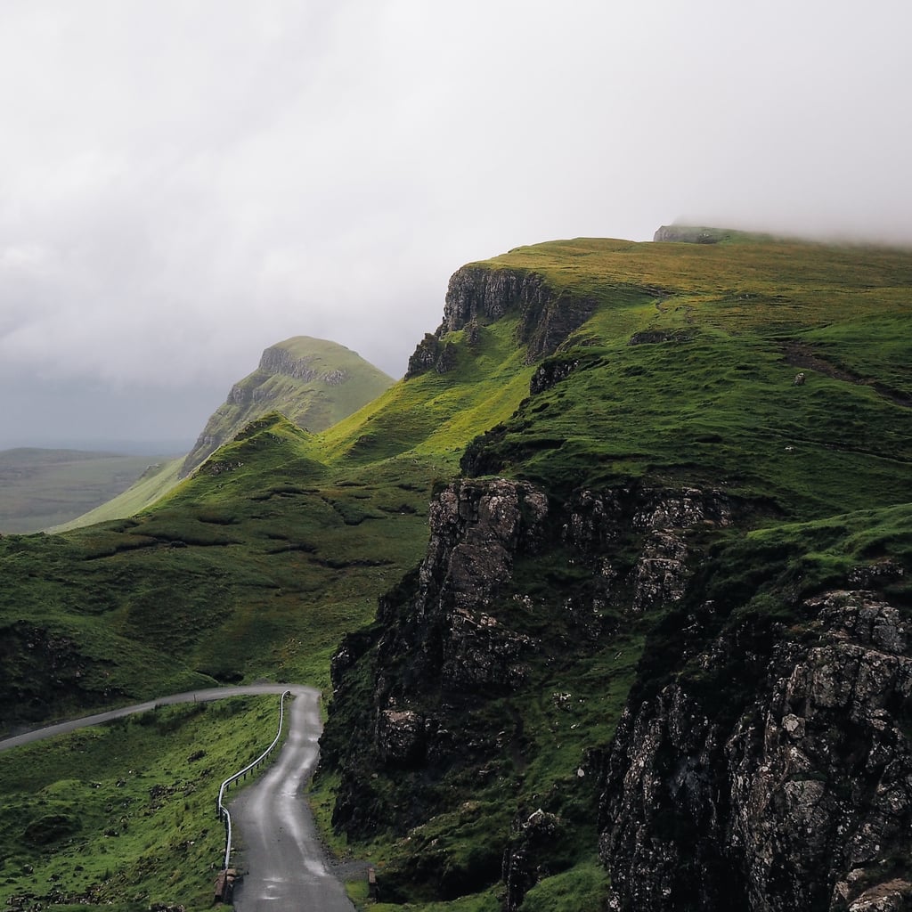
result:
<svg viewBox="0 0 912 912"><path fill-rule="evenodd" d="M399 378L521 244L912 244L910 34L907 0L3 0L0 449L189 449L292 336Z"/></svg>

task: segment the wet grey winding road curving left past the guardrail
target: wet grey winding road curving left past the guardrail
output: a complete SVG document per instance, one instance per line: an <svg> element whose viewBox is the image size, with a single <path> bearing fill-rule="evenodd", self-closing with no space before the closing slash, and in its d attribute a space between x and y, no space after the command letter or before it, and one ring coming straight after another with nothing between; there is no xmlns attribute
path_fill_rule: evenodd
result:
<svg viewBox="0 0 912 912"><path fill-rule="evenodd" d="M285 690L295 696L288 711L285 743L269 771L237 793L228 806L237 845L233 865L244 872L234 889L234 907L238 912L352 912L354 907L344 888L329 870L313 816L302 796L304 783L316 765L322 730L318 690L294 684L252 684L173 694L26 731L0 740L0 751L174 703L281 694Z"/></svg>

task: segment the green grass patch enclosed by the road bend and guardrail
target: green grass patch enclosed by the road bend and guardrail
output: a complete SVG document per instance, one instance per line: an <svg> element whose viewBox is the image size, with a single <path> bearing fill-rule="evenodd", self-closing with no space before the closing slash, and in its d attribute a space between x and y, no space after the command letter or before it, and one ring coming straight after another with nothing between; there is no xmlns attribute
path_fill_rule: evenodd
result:
<svg viewBox="0 0 912 912"><path fill-rule="evenodd" d="M0 753L0 905L209 908L219 785L272 741L277 718L275 697L232 698Z"/></svg>

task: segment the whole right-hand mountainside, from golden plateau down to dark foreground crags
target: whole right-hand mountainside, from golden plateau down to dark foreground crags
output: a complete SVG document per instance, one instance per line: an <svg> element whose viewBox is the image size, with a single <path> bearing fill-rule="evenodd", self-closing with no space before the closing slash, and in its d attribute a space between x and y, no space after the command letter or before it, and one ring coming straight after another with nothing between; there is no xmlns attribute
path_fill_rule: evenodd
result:
<svg viewBox="0 0 912 912"><path fill-rule="evenodd" d="M322 775L383 898L907 902L912 260L658 239L463 267L410 363L445 389L500 331L531 370L333 661Z"/></svg>

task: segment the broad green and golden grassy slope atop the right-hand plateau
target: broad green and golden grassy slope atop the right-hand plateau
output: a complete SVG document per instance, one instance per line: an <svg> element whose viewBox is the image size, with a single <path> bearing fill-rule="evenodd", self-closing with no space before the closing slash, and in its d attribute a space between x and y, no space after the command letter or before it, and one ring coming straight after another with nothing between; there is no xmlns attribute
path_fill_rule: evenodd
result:
<svg viewBox="0 0 912 912"><path fill-rule="evenodd" d="M490 441L500 471L559 486L689 479L800 516L912 500L912 255L582 240L491 262L608 305L565 346L583 369ZM645 330L669 341L628 344ZM800 387L795 346L818 360Z"/></svg>

